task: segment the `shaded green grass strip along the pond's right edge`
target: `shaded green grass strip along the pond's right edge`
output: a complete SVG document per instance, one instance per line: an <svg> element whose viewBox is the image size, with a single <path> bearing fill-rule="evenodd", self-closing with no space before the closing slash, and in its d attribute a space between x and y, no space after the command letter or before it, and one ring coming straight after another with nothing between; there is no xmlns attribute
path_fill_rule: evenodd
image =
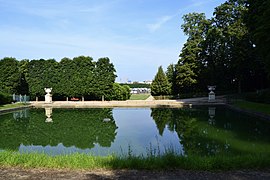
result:
<svg viewBox="0 0 270 180"><path fill-rule="evenodd" d="M241 109L251 110L255 112L265 113L270 115L270 104L255 103L250 101L239 100L233 104Z"/></svg>

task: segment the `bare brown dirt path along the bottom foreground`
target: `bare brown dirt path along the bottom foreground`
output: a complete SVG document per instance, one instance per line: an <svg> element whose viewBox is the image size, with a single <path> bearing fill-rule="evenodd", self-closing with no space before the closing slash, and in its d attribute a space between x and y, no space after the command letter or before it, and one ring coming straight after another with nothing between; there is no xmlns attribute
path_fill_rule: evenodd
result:
<svg viewBox="0 0 270 180"><path fill-rule="evenodd" d="M265 171L138 171L138 170L48 170L0 168L0 179L270 179L270 170Z"/></svg>

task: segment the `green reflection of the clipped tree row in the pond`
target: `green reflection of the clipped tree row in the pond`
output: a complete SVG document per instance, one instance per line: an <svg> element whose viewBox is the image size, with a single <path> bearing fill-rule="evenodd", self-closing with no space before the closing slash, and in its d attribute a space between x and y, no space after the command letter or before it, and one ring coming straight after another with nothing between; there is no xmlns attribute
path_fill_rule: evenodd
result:
<svg viewBox="0 0 270 180"><path fill-rule="evenodd" d="M45 122L43 109L31 110L28 123L18 124L6 116L0 121L0 148L3 149L18 149L21 143L42 146L63 143L66 147L81 149L93 148L97 143L110 147L116 136L111 109L54 109L53 123ZM104 122L104 118L110 121Z"/></svg>

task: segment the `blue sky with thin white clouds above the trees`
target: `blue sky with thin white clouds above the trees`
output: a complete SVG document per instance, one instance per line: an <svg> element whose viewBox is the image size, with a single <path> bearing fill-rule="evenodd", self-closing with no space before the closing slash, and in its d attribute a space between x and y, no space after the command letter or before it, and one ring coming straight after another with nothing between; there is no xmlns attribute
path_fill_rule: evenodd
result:
<svg viewBox="0 0 270 180"><path fill-rule="evenodd" d="M0 59L109 57L117 82L152 80L177 63L182 16L225 0L0 0Z"/></svg>

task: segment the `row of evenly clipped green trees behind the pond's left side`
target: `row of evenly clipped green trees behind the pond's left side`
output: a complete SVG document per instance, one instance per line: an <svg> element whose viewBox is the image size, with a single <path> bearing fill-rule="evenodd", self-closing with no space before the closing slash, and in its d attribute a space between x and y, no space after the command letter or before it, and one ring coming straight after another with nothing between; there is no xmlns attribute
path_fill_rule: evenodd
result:
<svg viewBox="0 0 270 180"><path fill-rule="evenodd" d="M0 60L0 92L44 97L45 87L53 88L54 100L84 97L85 100L126 100L128 86L115 83L116 70L109 58L94 61L89 56L55 59Z"/></svg>

